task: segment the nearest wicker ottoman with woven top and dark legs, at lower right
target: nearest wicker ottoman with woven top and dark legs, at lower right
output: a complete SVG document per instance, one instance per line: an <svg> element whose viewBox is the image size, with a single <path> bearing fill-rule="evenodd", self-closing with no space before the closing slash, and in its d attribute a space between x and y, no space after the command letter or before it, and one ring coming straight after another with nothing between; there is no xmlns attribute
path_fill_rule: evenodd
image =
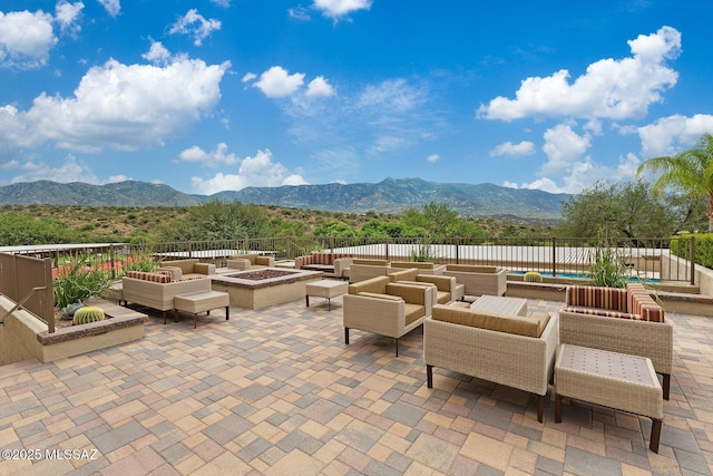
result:
<svg viewBox="0 0 713 476"><path fill-rule="evenodd" d="M561 421L561 398L649 417L648 448L658 453L663 391L651 359L561 344L555 363L555 421Z"/></svg>

